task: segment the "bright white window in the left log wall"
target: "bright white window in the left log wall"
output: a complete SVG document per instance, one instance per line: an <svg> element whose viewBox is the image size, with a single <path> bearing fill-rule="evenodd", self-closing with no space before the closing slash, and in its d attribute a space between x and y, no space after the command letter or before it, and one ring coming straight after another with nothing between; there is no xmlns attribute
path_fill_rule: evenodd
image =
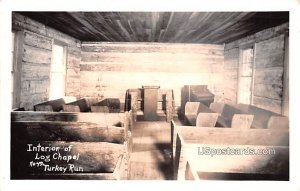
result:
<svg viewBox="0 0 300 191"><path fill-rule="evenodd" d="M65 96L66 47L54 42L52 46L49 99Z"/></svg>

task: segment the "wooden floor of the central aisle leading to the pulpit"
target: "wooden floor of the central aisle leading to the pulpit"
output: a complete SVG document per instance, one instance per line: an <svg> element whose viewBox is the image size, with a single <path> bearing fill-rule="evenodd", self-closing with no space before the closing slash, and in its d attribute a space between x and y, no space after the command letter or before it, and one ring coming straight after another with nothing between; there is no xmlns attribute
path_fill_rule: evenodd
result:
<svg viewBox="0 0 300 191"><path fill-rule="evenodd" d="M130 160L131 180L171 180L171 128L162 121L136 122Z"/></svg>

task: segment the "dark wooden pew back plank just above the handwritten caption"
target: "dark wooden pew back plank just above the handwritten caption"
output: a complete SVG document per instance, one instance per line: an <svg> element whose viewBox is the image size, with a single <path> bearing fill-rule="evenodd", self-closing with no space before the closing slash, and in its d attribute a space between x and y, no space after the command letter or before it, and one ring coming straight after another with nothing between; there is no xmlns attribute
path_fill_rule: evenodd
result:
<svg viewBox="0 0 300 191"><path fill-rule="evenodd" d="M88 122L12 122L14 138L28 141L91 141L124 143L122 127L101 126Z"/></svg>

